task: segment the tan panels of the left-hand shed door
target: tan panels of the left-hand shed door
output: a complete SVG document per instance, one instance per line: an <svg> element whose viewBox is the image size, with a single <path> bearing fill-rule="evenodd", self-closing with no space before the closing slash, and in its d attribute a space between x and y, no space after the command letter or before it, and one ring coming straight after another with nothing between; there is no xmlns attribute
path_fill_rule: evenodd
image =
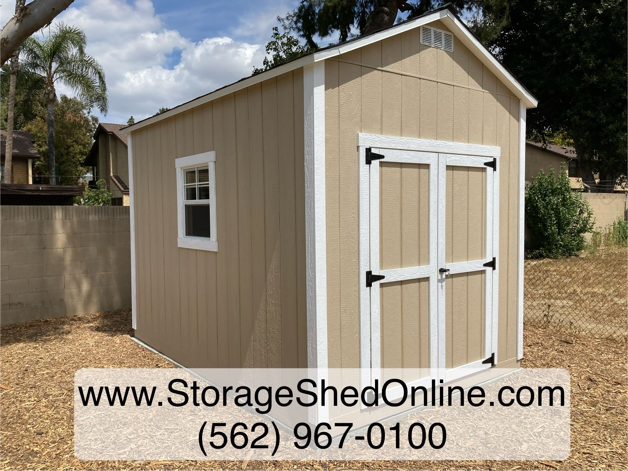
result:
<svg viewBox="0 0 628 471"><path fill-rule="evenodd" d="M429 263L428 166L380 164L381 269ZM381 283L381 364L384 368L429 365L429 281ZM421 376L404 371L404 379Z"/></svg>

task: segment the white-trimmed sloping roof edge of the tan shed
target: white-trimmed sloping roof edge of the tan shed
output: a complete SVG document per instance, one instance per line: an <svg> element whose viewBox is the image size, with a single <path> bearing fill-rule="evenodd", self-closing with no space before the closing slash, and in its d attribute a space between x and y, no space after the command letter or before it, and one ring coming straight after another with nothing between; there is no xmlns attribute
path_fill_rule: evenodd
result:
<svg viewBox="0 0 628 471"><path fill-rule="evenodd" d="M131 124L130 126L126 126L122 129L122 133L130 133L131 131L135 131L136 129L140 129L141 127L148 126L149 124L153 124L154 122L161 121L162 119L175 116L180 112L223 97L224 95L236 92L237 90L251 87L251 85L259 84L259 82L263 82L264 80L268 80L269 78L277 77L282 73L290 72L291 70L295 70L305 65L332 58L340 54L344 54L346 52L367 46L371 43L375 43L391 36L401 34L404 31L413 30L414 28L418 28L423 24L428 24L438 19L440 19L445 24L445 26L447 26L447 28L449 28L450 31L452 31L452 33L458 39L460 39L460 42L462 42L463 45L465 45L470 51L472 51L480 59L480 61L484 63L484 65L489 68L492 73L495 74L495 76L499 80L504 82L504 84L509 87L511 92L513 92L519 99L524 102L524 105L527 108L536 107L536 105L538 104L538 100L536 99L536 97L534 97L534 95L531 94L531 92L529 92L529 90L526 89L526 87L524 87L521 82L519 82L517 77L515 77L512 72L504 67L504 65L502 65L497 60L497 58L495 58L495 56L487 48L485 48L482 43L480 43L478 38L471 32L471 30L469 30L468 26L458 17L457 11L455 10L455 8L453 8L452 4L447 3L440 8L429 11L428 13L422 14L421 16L417 16L406 21L401 21L401 23L394 24L394 26L391 26L390 28L375 31L370 35L360 36L359 38L354 38L343 43L338 43L322 49L318 49L312 53L303 55L288 62L284 62L273 68L270 68L269 70L258 73L257 75L241 78L233 84L225 85L224 87L214 90L213 92L197 97L193 100L180 104L179 106L173 107L166 112L156 114L154 116L138 121L134 124Z"/></svg>

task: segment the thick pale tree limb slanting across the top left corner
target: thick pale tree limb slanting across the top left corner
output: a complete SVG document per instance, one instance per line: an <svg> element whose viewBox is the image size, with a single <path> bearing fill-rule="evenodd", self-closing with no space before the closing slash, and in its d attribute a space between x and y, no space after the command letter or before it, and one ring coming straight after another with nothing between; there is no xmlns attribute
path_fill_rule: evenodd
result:
<svg viewBox="0 0 628 471"><path fill-rule="evenodd" d="M72 2L73 0L33 0L25 6L22 3L19 11L16 10L0 33L0 65L4 65L28 36L50 24Z"/></svg>

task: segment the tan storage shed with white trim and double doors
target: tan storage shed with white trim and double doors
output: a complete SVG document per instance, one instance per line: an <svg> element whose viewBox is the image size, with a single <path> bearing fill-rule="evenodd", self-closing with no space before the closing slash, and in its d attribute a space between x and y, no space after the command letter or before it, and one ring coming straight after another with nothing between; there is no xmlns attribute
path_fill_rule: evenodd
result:
<svg viewBox="0 0 628 471"><path fill-rule="evenodd" d="M126 127L136 337L367 383L517 367L536 103L443 7Z"/></svg>

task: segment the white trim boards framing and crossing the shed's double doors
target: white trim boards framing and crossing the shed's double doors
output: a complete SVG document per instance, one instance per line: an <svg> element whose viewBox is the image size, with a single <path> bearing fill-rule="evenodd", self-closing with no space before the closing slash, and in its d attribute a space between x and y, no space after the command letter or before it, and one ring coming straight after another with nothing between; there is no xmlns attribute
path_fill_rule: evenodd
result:
<svg viewBox="0 0 628 471"><path fill-rule="evenodd" d="M430 377L451 381L479 369L490 367L484 359L449 371L445 370L445 303L439 301L440 290L444 290L445 275L438 273L446 267L450 273L465 273L484 270L486 274L486 322L485 358L494 355L497 362L497 318L498 318L498 269L499 254L499 155L495 146L449 143L428 139L400 138L359 133L357 136L359 156L359 286L360 286L360 366L362 386L372 384L380 378L380 312L379 289L367 287L366 273L384 275L378 283L389 283L419 277L433 277L430 283ZM430 224L430 265L400 269L379 270L379 163L366 163L366 149L385 155L386 162L426 163L430 165L430 214L436 214L436 224ZM409 152L411 151L411 152ZM413 151L413 152L412 152ZM414 154L414 155L413 155ZM487 165L488 164L488 165ZM491 164L494 165L492 169ZM486 191L486 246L485 259L445 264L445 249L438 241L438 234L445 234L445 188L447 165L475 166L487 168ZM491 171L492 170L492 171ZM489 257L489 255L491 255ZM495 269L484 266L492 263ZM373 285L374 287L377 284ZM444 291L443 291L444 292ZM435 313L435 314L433 314ZM370 371L369 371L370 369ZM418 382L425 379L417 380Z"/></svg>

